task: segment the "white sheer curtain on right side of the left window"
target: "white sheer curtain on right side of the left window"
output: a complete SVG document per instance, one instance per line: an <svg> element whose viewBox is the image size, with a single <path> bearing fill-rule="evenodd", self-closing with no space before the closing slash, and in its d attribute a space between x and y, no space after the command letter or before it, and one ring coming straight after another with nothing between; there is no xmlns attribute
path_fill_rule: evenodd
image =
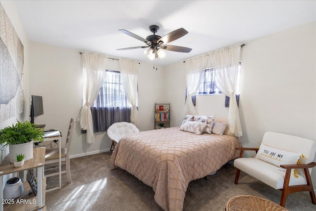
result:
<svg viewBox="0 0 316 211"><path fill-rule="evenodd" d="M130 122L139 127L140 118L137 110L137 81L138 81L138 63L128 59L118 61L119 72L122 75L123 86L126 97L132 109L130 112Z"/></svg>

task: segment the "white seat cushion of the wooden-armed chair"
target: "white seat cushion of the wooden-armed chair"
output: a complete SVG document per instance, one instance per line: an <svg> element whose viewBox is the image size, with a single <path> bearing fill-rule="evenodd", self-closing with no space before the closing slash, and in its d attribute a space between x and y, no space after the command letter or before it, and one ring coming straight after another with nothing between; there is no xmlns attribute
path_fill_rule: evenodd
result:
<svg viewBox="0 0 316 211"><path fill-rule="evenodd" d="M275 189L283 188L285 171L279 170L275 165L256 158L238 158L234 161L234 166ZM297 178L291 173L289 186L305 185L305 176L296 175Z"/></svg>

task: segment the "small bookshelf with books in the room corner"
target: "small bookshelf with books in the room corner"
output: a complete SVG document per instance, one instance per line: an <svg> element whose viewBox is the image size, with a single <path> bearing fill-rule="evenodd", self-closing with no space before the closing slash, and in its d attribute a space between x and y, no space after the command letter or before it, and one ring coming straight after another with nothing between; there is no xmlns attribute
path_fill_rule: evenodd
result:
<svg viewBox="0 0 316 211"><path fill-rule="evenodd" d="M170 127L170 103L155 103L154 119L154 129L160 129L159 124L164 124L164 128Z"/></svg>

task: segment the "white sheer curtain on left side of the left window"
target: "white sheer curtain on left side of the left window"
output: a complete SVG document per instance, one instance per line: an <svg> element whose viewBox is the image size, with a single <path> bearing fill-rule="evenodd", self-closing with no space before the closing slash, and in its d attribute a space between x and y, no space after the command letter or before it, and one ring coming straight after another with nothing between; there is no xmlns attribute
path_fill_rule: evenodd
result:
<svg viewBox="0 0 316 211"><path fill-rule="evenodd" d="M79 114L80 128L87 130L86 142L94 143L90 106L99 94L106 71L107 57L95 53L82 53L84 102Z"/></svg>

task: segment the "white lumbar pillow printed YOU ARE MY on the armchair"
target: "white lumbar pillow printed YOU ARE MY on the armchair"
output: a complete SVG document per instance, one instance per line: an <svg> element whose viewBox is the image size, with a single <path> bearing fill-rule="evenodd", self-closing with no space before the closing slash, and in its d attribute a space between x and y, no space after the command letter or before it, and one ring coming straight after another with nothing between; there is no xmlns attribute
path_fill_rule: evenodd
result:
<svg viewBox="0 0 316 211"><path fill-rule="evenodd" d="M297 164L301 156L302 154L287 152L261 144L255 158L280 167L280 165Z"/></svg>

